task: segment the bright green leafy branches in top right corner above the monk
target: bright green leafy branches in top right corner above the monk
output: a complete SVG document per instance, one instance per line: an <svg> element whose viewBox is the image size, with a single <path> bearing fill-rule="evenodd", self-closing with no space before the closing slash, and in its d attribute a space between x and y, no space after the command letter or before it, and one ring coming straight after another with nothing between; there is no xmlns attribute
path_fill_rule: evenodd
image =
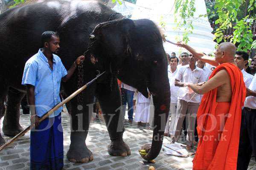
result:
<svg viewBox="0 0 256 170"><path fill-rule="evenodd" d="M249 0L249 6L247 16L238 19L237 11L239 7L244 2L244 0L216 0L215 9L217 9L218 20L215 21L215 24L219 25L219 28L215 31L216 41L222 42L227 41L228 37L224 37L224 31L228 28L232 28L232 23L236 23L236 26L233 27L233 37L230 39L230 42L234 44L239 43L238 50L246 51L250 50L250 45L253 42L253 34L251 31L252 21L255 19L254 16L250 17L250 11L256 7L254 0ZM249 21L249 22L247 22Z"/></svg>

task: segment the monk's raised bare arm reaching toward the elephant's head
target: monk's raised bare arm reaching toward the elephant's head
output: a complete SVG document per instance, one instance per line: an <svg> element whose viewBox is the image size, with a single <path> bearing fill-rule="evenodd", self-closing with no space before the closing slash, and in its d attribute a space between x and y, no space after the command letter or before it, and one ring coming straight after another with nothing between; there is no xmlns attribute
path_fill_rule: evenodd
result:
<svg viewBox="0 0 256 170"><path fill-rule="evenodd" d="M217 61L215 61L215 58L209 57L202 52L198 52L194 48L190 47L189 45L187 45L183 42L177 42L176 45L179 47L186 48L186 50L189 51L191 54L193 54L194 57L200 59L203 62L207 62L210 65L213 65L215 67L217 67L219 65L219 63Z"/></svg>

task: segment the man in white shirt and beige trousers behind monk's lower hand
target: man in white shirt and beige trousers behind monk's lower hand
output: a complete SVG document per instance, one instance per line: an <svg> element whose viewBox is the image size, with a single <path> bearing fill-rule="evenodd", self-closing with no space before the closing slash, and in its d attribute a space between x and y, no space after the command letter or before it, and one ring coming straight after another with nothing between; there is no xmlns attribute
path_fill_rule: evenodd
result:
<svg viewBox="0 0 256 170"><path fill-rule="evenodd" d="M196 59L193 55L189 56L189 65L184 65L179 68L175 77L175 86L184 87L186 82L194 84L204 82L204 73L201 68L195 65ZM180 88L180 90L184 90ZM180 137L180 130L183 120L186 116L187 129L187 149L191 150L194 142L195 119L200 103L200 96L195 92L190 91L186 94L178 94L177 100L177 115L176 115L176 131L172 142L176 142Z"/></svg>

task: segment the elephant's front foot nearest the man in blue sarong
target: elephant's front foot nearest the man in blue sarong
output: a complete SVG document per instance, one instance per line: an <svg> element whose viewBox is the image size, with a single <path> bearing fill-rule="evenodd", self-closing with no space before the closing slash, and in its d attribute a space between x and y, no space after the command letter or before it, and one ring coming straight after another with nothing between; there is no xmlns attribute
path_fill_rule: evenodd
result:
<svg viewBox="0 0 256 170"><path fill-rule="evenodd" d="M67 152L67 159L75 163L87 163L93 160L93 153L86 146L70 148Z"/></svg>

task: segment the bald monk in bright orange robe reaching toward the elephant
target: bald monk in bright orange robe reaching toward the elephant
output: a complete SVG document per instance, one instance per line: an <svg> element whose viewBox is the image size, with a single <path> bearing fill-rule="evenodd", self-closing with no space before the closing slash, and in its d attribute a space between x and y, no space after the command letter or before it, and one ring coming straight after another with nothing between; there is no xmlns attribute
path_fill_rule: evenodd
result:
<svg viewBox="0 0 256 170"><path fill-rule="evenodd" d="M241 107L246 95L243 75L234 61L236 46L230 42L221 43L213 58L183 42L177 45L201 61L216 66L204 84L184 85L204 94L197 113L199 143L193 170L236 170Z"/></svg>

